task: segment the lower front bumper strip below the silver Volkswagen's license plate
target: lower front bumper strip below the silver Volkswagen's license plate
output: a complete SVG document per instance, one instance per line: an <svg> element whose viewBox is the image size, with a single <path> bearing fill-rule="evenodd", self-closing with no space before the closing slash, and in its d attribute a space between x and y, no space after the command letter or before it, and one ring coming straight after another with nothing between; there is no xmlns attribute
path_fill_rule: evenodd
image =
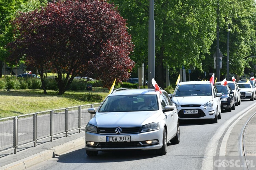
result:
<svg viewBox="0 0 256 170"><path fill-rule="evenodd" d="M99 142L97 146L89 146L91 148L140 148L146 146L158 145L159 143L153 143L150 145L141 145L140 142Z"/></svg>

